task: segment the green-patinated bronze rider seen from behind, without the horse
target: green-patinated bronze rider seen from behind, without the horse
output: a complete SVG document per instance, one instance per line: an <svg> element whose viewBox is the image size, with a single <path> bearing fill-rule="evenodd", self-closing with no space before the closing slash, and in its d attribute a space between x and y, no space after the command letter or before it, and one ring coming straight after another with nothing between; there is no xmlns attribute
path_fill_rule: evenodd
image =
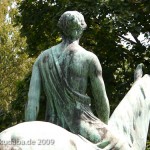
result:
<svg viewBox="0 0 150 150"><path fill-rule="evenodd" d="M62 42L41 53L33 66L25 120L36 120L43 88L47 97L46 121L97 143L105 136L104 123L108 123L110 111L102 68L97 56L79 45L86 28L83 15L66 12L58 26ZM88 82L91 82L98 118L90 108Z"/></svg>

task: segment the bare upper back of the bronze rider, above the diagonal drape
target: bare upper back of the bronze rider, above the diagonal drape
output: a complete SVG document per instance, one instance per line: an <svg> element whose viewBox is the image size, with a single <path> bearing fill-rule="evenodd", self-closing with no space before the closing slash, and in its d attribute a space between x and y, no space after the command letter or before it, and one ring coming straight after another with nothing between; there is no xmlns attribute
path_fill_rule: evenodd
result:
<svg viewBox="0 0 150 150"><path fill-rule="evenodd" d="M62 49L59 44L44 53L42 59L44 59L47 53L49 53L49 55L53 53L58 60L58 64L69 86L81 94L86 94L89 77L90 52L79 45L69 47L68 49Z"/></svg>

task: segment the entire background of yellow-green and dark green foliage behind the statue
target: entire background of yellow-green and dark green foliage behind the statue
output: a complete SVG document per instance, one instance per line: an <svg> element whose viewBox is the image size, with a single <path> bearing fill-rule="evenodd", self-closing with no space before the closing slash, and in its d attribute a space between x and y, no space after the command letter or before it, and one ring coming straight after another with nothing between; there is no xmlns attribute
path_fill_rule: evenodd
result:
<svg viewBox="0 0 150 150"><path fill-rule="evenodd" d="M24 121L32 64L61 41L57 21L67 10L85 17L80 44L99 57L111 112L130 89L137 64L149 73L149 0L0 0L0 131ZM44 105L42 94L39 120Z"/></svg>

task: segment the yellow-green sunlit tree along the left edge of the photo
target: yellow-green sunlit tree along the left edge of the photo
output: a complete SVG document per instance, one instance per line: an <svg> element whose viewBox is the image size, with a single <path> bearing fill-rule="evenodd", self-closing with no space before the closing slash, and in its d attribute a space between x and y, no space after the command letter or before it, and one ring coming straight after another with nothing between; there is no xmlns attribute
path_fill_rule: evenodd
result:
<svg viewBox="0 0 150 150"><path fill-rule="evenodd" d="M26 39L20 37L20 26L14 26L14 16L18 13L15 2L2 0L0 4L0 130L2 130L15 122L11 103L17 96L16 85L31 66L31 59L24 53Z"/></svg>

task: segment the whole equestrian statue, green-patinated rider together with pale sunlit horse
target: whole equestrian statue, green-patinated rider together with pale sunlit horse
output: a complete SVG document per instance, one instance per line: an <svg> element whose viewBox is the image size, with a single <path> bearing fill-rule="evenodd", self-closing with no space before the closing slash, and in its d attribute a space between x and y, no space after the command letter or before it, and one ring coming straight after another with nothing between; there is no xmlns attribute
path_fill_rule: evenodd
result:
<svg viewBox="0 0 150 150"><path fill-rule="evenodd" d="M65 12L58 26L62 32L62 42L44 51L34 63L25 120L36 120L43 88L47 97L46 121L77 135L54 124L29 122L2 132L0 140L55 137L59 141L56 147L51 147L55 150L60 149L60 146L69 150L97 150L98 147L104 150L144 150L150 120L150 76L142 78L142 64L135 70L133 87L109 119L109 102L100 62L93 53L79 45L86 28L84 17L76 11ZM88 82L91 82L98 117L90 108ZM29 132L26 133L24 129L29 129ZM64 139L58 137L61 134L59 131L64 134ZM62 140L66 140L67 144L60 145ZM92 144L92 147L88 147L88 144ZM0 149L5 150L8 146L16 149L10 144L0 144ZM29 147L25 149L37 149L33 145ZM45 145L42 146L44 148Z"/></svg>

